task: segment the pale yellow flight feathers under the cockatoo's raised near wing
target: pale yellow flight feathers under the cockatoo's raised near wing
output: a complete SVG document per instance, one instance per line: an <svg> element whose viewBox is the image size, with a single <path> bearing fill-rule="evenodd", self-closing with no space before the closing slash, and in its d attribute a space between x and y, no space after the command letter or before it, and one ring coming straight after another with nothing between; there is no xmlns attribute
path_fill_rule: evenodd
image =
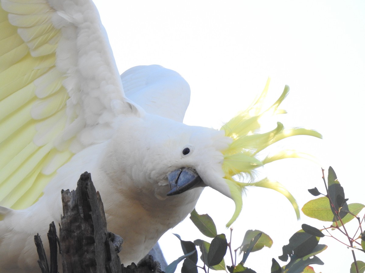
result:
<svg viewBox="0 0 365 273"><path fill-rule="evenodd" d="M0 8L0 206L23 209L73 154L54 147L69 95L55 69L52 9L17 2Z"/></svg>

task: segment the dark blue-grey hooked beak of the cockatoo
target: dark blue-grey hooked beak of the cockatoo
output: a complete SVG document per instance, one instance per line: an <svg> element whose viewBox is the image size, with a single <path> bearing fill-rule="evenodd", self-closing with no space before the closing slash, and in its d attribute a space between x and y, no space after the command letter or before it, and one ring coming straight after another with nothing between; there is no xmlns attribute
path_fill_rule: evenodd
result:
<svg viewBox="0 0 365 273"><path fill-rule="evenodd" d="M199 174L194 169L181 168L168 174L170 191L168 196L183 193L193 187L204 186Z"/></svg>

